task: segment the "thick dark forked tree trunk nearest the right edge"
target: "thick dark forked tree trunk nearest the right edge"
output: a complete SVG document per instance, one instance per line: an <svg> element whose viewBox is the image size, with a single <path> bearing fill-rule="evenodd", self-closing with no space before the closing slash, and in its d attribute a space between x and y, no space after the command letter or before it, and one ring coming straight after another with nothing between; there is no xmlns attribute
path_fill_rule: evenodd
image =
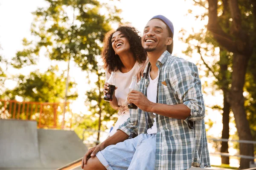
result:
<svg viewBox="0 0 256 170"><path fill-rule="evenodd" d="M253 44L249 34L241 29L241 11L238 0L228 0L231 18L233 18L231 32L227 34L220 26L218 19L218 0L208 0L208 24L207 29L219 45L233 52L233 73L229 103L234 113L236 128L240 140L253 140L249 122L244 110L243 87L248 60L252 55ZM239 144L240 154L253 156L253 144ZM248 168L250 159L240 159L240 168Z"/></svg>

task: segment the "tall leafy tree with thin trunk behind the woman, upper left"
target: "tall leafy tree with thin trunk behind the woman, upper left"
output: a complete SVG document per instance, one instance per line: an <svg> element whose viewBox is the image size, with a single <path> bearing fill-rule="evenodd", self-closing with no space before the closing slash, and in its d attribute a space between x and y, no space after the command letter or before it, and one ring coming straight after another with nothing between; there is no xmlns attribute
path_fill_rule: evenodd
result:
<svg viewBox="0 0 256 170"><path fill-rule="evenodd" d="M21 68L35 65L41 50L44 56L51 60L68 62L73 60L88 75L98 77L98 89L102 87L102 74L98 62L105 34L110 31L112 23L119 23L121 10L97 0L46 0L48 6L38 8L33 14L35 20L31 26L32 35L36 41L23 40L24 50L17 52L13 66ZM100 87L100 88L101 88ZM102 101L102 91L93 93L99 104L99 110L94 112L101 115L105 107ZM87 98L91 103L91 98ZM91 108L93 109L94 106ZM113 110L110 112L112 114ZM86 116L85 116L86 117ZM100 116L102 117L102 116ZM109 117L109 116L108 116ZM101 120L101 119L99 119ZM81 125L79 121L78 125ZM87 122L88 123L88 122ZM94 127L91 122L87 127ZM101 122L99 121L99 129Z"/></svg>

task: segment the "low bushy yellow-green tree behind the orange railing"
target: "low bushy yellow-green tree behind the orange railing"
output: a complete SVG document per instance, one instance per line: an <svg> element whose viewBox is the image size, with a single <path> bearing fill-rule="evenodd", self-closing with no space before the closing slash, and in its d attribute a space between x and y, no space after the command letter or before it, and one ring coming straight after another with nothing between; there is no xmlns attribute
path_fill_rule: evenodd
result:
<svg viewBox="0 0 256 170"><path fill-rule="evenodd" d="M64 104L57 102L64 102L65 96L65 79L63 73L58 73L58 67L50 67L46 72L40 73L39 70L31 72L29 75L24 76L20 74L14 77L17 86L14 89L7 89L5 91L6 100L15 100L17 97L23 102L32 103L18 103L12 104L8 102L7 108L12 105L13 110L9 110L9 117L16 117L17 119L35 119L39 125L46 125L47 127L59 127L60 123L57 121L58 116L63 114ZM70 90L76 88L75 82L70 82ZM76 92L68 91L68 99L75 99ZM33 102L42 102L44 105L35 104ZM46 102L49 102L46 105ZM21 107L22 105L22 107ZM3 108L3 103L0 105ZM22 108L22 109L21 109ZM69 107L67 107L69 109ZM42 109L42 110L41 110ZM41 112L42 111L42 112ZM40 113L40 115L39 115Z"/></svg>

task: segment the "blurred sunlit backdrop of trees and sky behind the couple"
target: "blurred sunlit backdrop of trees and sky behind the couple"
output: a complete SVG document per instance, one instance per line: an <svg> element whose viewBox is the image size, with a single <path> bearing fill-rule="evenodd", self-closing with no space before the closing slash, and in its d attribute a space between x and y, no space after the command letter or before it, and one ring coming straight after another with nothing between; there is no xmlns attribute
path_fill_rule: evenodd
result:
<svg viewBox="0 0 256 170"><path fill-rule="evenodd" d="M72 124L89 147L101 142L117 119L103 100L104 36L123 24L142 32L156 14L174 23L174 54L198 66L208 138L255 141L255 0L0 0L0 99L70 102L67 129ZM25 37L23 23L30 26ZM256 153L253 144L209 141L209 147L233 155ZM230 160L222 156L219 162ZM239 161L246 168L251 160L232 165Z"/></svg>

